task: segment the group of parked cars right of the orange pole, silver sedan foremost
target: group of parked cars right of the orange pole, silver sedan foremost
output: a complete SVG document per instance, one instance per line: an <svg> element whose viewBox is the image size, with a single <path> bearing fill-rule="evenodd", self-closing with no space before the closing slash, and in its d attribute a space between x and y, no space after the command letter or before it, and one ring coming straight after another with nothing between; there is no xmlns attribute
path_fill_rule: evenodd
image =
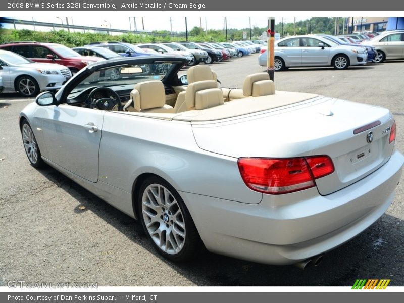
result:
<svg viewBox="0 0 404 303"><path fill-rule="evenodd" d="M358 39L359 40L359 39ZM275 41L274 68L333 66L346 69L368 62L381 63L385 59L404 58L404 30L386 31L361 42L316 34L292 36ZM258 62L267 66L267 49L261 49Z"/></svg>

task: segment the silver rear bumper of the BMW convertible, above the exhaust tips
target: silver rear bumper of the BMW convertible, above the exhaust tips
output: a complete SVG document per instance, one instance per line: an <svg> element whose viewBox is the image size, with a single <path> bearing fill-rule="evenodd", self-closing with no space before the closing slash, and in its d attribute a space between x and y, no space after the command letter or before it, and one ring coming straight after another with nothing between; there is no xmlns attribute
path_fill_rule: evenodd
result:
<svg viewBox="0 0 404 303"><path fill-rule="evenodd" d="M263 195L259 204L180 192L205 246L239 259L292 264L331 250L373 224L394 199L404 157L397 151L366 178L321 196L316 188Z"/></svg>

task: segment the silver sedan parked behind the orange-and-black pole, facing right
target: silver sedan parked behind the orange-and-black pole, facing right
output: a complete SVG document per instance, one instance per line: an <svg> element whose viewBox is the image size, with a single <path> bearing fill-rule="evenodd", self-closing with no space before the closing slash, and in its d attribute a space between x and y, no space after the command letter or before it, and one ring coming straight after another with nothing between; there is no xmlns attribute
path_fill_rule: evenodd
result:
<svg viewBox="0 0 404 303"><path fill-rule="evenodd" d="M367 57L362 47L338 45L318 36L294 36L275 42L276 71L301 66L346 69L352 65L366 64ZM261 66L267 66L267 51L259 56L258 62Z"/></svg>

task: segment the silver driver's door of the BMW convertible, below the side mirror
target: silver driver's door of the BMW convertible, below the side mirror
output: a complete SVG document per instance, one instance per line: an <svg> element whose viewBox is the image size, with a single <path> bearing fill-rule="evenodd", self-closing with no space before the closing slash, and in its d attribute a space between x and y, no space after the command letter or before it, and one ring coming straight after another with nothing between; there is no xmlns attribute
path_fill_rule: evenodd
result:
<svg viewBox="0 0 404 303"><path fill-rule="evenodd" d="M49 160L96 182L104 111L67 104L45 109L42 131Z"/></svg>

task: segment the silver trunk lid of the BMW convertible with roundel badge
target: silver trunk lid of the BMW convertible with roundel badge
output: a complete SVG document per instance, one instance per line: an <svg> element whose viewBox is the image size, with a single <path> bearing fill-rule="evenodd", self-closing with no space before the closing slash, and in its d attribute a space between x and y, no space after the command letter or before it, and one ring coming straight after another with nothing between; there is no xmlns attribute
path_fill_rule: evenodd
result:
<svg viewBox="0 0 404 303"><path fill-rule="evenodd" d="M316 180L322 195L377 170L394 145L389 143L393 118L387 109L330 98L254 116L191 123L198 146L213 153L235 158L331 157L334 173Z"/></svg>

